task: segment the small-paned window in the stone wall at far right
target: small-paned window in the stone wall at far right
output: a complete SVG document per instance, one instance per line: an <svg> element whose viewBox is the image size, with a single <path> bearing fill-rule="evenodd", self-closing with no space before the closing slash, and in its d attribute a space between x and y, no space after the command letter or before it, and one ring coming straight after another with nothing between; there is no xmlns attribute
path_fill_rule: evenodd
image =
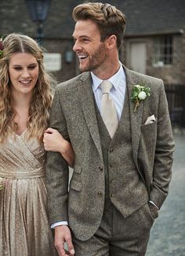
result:
<svg viewBox="0 0 185 256"><path fill-rule="evenodd" d="M154 39L153 65L172 64L172 36L162 36Z"/></svg>

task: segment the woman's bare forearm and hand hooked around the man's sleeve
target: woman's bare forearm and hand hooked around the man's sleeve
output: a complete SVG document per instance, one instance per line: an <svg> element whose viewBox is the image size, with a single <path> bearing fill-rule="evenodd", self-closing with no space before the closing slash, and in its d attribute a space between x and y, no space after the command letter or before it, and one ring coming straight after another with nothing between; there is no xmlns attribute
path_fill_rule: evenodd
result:
<svg viewBox="0 0 185 256"><path fill-rule="evenodd" d="M74 150L60 132L53 128L47 128L44 133L43 143L46 151L60 152L68 165L74 166Z"/></svg>

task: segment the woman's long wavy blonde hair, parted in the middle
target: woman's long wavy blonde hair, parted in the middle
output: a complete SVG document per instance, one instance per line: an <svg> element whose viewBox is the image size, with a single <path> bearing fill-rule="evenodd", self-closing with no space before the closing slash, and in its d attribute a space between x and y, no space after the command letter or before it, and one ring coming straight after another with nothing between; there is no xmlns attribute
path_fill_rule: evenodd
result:
<svg viewBox="0 0 185 256"><path fill-rule="evenodd" d="M9 79L9 60L16 53L33 55L38 61L38 81L34 87L27 121L27 139L42 136L49 122L49 111L52 104L51 85L55 80L45 71L43 50L38 43L27 35L12 33L3 40L4 49L0 58L0 143L5 142L11 131L16 132L13 122L16 111L13 109L11 82Z"/></svg>

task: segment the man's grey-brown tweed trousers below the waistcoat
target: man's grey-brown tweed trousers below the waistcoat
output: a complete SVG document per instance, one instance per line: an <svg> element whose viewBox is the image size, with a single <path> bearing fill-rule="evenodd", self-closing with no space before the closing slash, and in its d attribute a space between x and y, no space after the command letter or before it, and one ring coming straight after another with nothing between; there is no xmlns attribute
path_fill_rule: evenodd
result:
<svg viewBox="0 0 185 256"><path fill-rule="evenodd" d="M73 237L76 256L143 256L147 250L154 217L148 203L129 217L110 204L93 237L81 241Z"/></svg>

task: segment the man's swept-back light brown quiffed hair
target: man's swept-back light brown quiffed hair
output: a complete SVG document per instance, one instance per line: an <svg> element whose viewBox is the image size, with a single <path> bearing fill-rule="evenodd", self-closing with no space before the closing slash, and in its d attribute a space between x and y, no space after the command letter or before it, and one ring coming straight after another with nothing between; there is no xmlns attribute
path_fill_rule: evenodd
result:
<svg viewBox="0 0 185 256"><path fill-rule="evenodd" d="M101 41L111 35L116 35L118 49L122 46L125 32L125 15L110 4L101 2L88 2L76 6L73 18L78 20L93 20L100 29Z"/></svg>

